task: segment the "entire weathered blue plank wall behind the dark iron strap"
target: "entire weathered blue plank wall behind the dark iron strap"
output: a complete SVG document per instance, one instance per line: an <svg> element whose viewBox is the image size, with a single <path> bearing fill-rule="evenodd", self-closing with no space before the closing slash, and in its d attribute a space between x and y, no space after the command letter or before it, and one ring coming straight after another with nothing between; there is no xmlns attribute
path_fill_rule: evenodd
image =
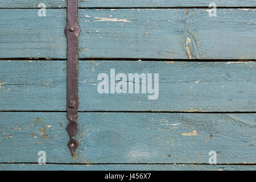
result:
<svg viewBox="0 0 256 182"><path fill-rule="evenodd" d="M248 61L256 57L256 2L214 3L230 8L209 17L205 0L79 1L94 7L79 10L80 59L168 61L80 61L79 110L93 112L79 113L73 159L65 130L67 2L0 0L0 170L256 170L255 62ZM42 61L8 60L30 57ZM227 62L189 62L195 59ZM110 69L159 73L158 100L99 94L97 76ZM253 113L223 113L236 111ZM39 151L52 164L36 164ZM209 151L218 165L207 165Z"/></svg>

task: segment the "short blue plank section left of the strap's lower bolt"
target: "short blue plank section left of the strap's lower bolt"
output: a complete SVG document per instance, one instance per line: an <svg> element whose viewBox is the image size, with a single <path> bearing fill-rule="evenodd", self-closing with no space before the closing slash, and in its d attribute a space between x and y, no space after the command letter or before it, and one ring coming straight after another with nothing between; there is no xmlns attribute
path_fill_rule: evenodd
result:
<svg viewBox="0 0 256 182"><path fill-rule="evenodd" d="M66 110L66 61L0 61L0 110Z"/></svg>

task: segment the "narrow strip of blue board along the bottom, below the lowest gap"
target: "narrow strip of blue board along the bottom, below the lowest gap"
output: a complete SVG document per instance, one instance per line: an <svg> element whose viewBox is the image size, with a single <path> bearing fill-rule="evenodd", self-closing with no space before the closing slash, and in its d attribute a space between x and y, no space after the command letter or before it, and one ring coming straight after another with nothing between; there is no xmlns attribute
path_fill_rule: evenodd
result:
<svg viewBox="0 0 256 182"><path fill-rule="evenodd" d="M0 164L5 171L255 171L256 166L203 164Z"/></svg>

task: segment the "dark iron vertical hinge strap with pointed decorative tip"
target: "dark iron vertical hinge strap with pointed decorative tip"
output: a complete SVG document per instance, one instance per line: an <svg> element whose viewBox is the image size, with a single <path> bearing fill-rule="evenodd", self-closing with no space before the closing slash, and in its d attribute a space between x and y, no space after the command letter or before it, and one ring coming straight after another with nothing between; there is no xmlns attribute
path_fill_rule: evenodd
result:
<svg viewBox="0 0 256 182"><path fill-rule="evenodd" d="M67 131L70 137L68 148L75 157L76 148L79 142L76 140L76 134L79 130L77 125L77 109L79 106L77 93L77 38L81 31L77 20L77 0L68 0L68 20L65 27L67 36L67 117L69 123Z"/></svg>

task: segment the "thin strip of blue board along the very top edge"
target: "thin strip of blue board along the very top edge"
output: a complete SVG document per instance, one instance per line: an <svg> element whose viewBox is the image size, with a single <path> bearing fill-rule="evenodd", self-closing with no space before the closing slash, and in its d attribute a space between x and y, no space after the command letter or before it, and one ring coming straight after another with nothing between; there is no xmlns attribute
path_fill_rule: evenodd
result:
<svg viewBox="0 0 256 182"><path fill-rule="evenodd" d="M0 8L36 8L39 3L45 3L47 8L52 7L67 7L66 2L62 0L12 0L5 1L0 0ZM112 1L100 1L100 0L79 0L79 7L208 7L209 1L206 0L112 0ZM232 0L223 1L215 0L214 3L218 7L255 7L256 3L253 0Z"/></svg>

